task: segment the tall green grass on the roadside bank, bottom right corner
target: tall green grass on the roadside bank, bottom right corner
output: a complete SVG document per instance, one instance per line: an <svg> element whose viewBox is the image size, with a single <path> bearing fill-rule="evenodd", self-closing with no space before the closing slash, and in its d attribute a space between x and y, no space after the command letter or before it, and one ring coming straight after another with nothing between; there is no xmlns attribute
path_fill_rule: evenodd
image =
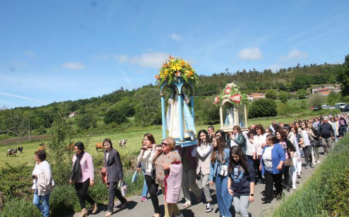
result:
<svg viewBox="0 0 349 217"><path fill-rule="evenodd" d="M349 216L349 136L341 139L305 184L273 216Z"/></svg>

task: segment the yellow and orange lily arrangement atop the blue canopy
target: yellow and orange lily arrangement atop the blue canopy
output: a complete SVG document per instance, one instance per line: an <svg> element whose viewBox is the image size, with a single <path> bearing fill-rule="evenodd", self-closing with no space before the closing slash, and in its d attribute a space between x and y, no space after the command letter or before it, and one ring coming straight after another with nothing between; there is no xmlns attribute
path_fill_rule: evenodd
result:
<svg viewBox="0 0 349 217"><path fill-rule="evenodd" d="M198 74L191 65L181 58L170 57L161 66L158 75L155 75L156 81L161 85L165 81L171 83L182 77L185 82L195 84L198 82Z"/></svg>

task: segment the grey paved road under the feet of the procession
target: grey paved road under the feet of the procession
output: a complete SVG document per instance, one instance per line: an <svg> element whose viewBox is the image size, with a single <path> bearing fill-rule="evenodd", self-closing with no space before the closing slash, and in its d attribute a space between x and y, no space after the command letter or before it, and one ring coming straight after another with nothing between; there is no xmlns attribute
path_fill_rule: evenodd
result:
<svg viewBox="0 0 349 217"><path fill-rule="evenodd" d="M323 149L319 148L319 152L320 152L320 159L321 162L323 162L324 158L326 157L325 155L323 155ZM314 170L316 169L316 167L318 167L318 164L315 165L315 169L305 169L305 161L304 159L302 159L303 162L303 167L302 167L302 178L297 179L297 181L299 181L299 185L297 185L297 187L299 188L300 186L302 186L302 184L307 180L307 178L309 178L312 173L314 172ZM201 187L201 182L198 181L197 182L199 187ZM280 203L282 203L282 201L276 201L275 199L272 201L272 203L269 204L262 204L262 194L261 192L264 190L264 186L262 184L256 185L255 186L255 201L253 203L250 203L249 206L249 211L252 213L253 216L268 216L270 214L270 212L272 211L273 207L276 207L277 205L279 205ZM291 192L286 192L284 191L286 196L289 196L293 193L293 191L291 190ZM215 202L216 199L216 192L215 192L215 188L211 188L211 195L213 196L213 200ZM183 194L181 195L183 197ZM124 209L124 210L120 210L119 207L119 201L116 201L115 204L117 204L117 206L114 208L114 213L112 216L130 216L130 217L150 217L154 215L154 209L153 209L153 205L151 204L151 200L147 200L146 202L141 202L141 195L138 196L133 196L133 197L128 197L128 208ZM163 201L164 201L164 197L161 194L161 191L158 195L159 198L159 204L160 204L160 209L162 210L162 212L164 212L164 206L163 206ZM195 196L194 194L192 194L192 201L195 201ZM204 198L204 197L202 197ZM181 212L183 213L183 215L185 217L193 217L193 216L200 216L200 217L211 217L211 216L219 216L219 212L218 212L218 206L217 203L215 202L215 206L214 206L214 210L211 212L206 213L205 212L205 204L204 203L199 203L199 204L194 204L191 205L190 207L183 207L183 203L185 202L185 200L181 200L178 203L178 207L181 210ZM98 206L98 211L95 215L91 215L91 210L89 210L89 215L91 216L96 216L96 217L104 217L105 214L107 212L107 205L99 205ZM78 217L80 215L80 213L76 213L75 215L69 215L67 217Z"/></svg>

